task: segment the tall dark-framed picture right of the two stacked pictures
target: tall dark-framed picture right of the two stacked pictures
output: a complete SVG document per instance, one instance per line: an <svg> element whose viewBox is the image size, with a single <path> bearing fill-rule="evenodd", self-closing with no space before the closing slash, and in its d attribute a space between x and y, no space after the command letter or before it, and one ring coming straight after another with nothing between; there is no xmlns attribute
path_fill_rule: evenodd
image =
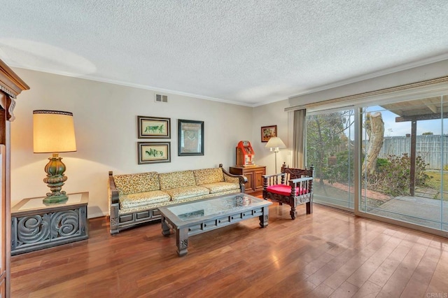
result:
<svg viewBox="0 0 448 298"><path fill-rule="evenodd" d="M204 155L204 121L179 119L179 156Z"/></svg>

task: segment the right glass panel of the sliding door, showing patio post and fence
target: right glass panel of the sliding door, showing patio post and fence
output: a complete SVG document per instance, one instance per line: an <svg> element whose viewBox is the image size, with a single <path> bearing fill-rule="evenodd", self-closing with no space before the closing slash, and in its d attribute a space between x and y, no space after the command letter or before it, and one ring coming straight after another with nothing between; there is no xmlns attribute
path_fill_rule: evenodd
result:
<svg viewBox="0 0 448 298"><path fill-rule="evenodd" d="M447 117L446 96L363 108L359 211L447 231Z"/></svg>

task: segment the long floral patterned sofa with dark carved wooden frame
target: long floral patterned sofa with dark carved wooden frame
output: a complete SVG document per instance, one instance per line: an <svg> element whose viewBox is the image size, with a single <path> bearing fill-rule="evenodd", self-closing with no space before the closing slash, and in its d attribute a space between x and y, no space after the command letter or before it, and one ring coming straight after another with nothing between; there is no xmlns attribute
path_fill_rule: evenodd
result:
<svg viewBox="0 0 448 298"><path fill-rule="evenodd" d="M111 234L160 219L158 207L244 192L247 178L218 168L113 175L109 171Z"/></svg>

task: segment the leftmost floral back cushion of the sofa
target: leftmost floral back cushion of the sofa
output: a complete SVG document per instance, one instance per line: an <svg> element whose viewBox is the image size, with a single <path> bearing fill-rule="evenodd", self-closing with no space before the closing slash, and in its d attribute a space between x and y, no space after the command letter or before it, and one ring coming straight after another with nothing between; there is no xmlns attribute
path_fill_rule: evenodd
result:
<svg viewBox="0 0 448 298"><path fill-rule="evenodd" d="M120 195L160 190L159 174L157 172L115 175L113 176L113 182Z"/></svg>

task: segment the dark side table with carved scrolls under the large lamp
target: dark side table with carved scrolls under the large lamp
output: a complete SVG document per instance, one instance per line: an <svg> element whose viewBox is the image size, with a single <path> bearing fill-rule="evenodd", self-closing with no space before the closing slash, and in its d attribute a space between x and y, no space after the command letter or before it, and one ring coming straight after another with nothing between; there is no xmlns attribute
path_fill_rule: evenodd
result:
<svg viewBox="0 0 448 298"><path fill-rule="evenodd" d="M88 192L68 194L62 204L22 199L11 209L11 255L87 239Z"/></svg>

